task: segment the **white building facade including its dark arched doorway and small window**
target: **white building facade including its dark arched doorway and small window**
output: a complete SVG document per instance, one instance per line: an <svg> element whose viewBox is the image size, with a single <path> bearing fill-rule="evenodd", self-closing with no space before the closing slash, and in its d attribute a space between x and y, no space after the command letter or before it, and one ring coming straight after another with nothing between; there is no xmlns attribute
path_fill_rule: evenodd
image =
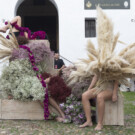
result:
<svg viewBox="0 0 135 135"><path fill-rule="evenodd" d="M2 21L20 15L23 26L30 27L32 31L47 31L51 48L75 62L78 58L86 57L88 39L97 45L97 14L96 9L90 9L92 1L94 0L1 0L0 20L2 24ZM114 33L120 32L119 40L130 44L135 42L135 0L122 1L125 9L108 8L104 12L114 23ZM126 9L129 4L130 7ZM123 46L119 44L116 52Z"/></svg>

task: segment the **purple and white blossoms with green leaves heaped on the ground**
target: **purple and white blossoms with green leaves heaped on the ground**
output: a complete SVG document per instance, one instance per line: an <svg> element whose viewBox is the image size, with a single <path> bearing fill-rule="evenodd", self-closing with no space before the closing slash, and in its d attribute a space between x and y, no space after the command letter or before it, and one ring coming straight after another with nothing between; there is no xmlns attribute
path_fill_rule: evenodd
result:
<svg viewBox="0 0 135 135"><path fill-rule="evenodd" d="M65 113L66 119L64 123L82 124L85 122L85 114L83 112L81 101L79 101L73 94L66 99L66 103L60 104L60 108Z"/></svg>

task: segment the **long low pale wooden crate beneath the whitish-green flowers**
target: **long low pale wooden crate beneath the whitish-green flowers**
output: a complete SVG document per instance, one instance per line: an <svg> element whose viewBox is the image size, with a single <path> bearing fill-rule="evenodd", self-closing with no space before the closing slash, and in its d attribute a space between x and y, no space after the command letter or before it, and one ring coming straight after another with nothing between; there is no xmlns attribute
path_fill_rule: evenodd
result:
<svg viewBox="0 0 135 135"><path fill-rule="evenodd" d="M52 106L49 107L59 115ZM37 101L22 102L0 99L0 119L44 120L44 109Z"/></svg>

